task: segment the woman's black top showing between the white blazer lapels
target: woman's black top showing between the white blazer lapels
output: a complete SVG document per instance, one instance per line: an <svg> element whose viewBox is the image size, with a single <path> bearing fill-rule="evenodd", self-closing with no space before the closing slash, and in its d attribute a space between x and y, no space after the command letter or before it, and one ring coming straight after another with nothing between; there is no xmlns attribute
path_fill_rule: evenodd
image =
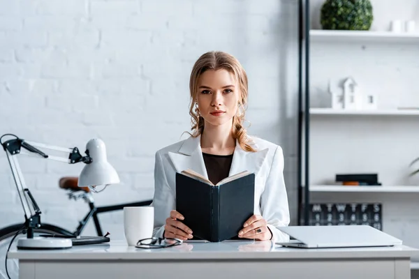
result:
<svg viewBox="0 0 419 279"><path fill-rule="evenodd" d="M213 155L203 153L205 167L207 169L208 179L214 185L219 181L228 177L230 172L231 162L233 161L233 154L230 155Z"/></svg>

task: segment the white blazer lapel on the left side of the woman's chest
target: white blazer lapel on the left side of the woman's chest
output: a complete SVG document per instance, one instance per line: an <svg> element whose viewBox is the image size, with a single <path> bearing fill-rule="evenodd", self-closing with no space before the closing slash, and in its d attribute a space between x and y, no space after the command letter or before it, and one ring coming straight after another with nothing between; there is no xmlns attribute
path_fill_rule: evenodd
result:
<svg viewBox="0 0 419 279"><path fill-rule="evenodd" d="M192 169L208 179L203 152L200 148L200 135L198 137L189 137L184 141L182 146L180 146L177 153L169 152L168 154L175 166L176 172Z"/></svg>

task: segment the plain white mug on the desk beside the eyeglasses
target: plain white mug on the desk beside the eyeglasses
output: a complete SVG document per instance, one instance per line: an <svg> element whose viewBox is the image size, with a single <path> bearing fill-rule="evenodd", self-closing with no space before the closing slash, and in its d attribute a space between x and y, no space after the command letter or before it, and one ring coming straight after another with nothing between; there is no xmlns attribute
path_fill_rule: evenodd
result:
<svg viewBox="0 0 419 279"><path fill-rule="evenodd" d="M140 239L152 237L154 226L154 207L124 207L124 232L128 246L135 246Z"/></svg>

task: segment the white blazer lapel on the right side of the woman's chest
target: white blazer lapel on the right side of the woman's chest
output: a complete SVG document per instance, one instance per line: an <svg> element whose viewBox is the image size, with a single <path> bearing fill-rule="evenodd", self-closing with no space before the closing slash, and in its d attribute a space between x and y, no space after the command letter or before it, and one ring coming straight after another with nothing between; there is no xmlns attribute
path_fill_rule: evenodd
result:
<svg viewBox="0 0 419 279"><path fill-rule="evenodd" d="M253 149L258 150L258 145L250 140ZM260 167L262 167L265 161L267 151L269 149L263 149L256 152L247 152L242 149L239 142L236 142L236 147L233 155L233 161L231 162L230 173L228 176L244 172L245 170L253 172L255 175L258 174Z"/></svg>

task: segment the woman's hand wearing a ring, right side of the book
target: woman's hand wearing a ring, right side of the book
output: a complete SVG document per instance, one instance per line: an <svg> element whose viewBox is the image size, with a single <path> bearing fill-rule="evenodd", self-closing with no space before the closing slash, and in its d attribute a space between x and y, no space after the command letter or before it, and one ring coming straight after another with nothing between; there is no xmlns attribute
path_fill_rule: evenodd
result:
<svg viewBox="0 0 419 279"><path fill-rule="evenodd" d="M260 215L253 215L244 222L243 229L239 232L242 239L270 240L272 233L267 228L267 222Z"/></svg>

